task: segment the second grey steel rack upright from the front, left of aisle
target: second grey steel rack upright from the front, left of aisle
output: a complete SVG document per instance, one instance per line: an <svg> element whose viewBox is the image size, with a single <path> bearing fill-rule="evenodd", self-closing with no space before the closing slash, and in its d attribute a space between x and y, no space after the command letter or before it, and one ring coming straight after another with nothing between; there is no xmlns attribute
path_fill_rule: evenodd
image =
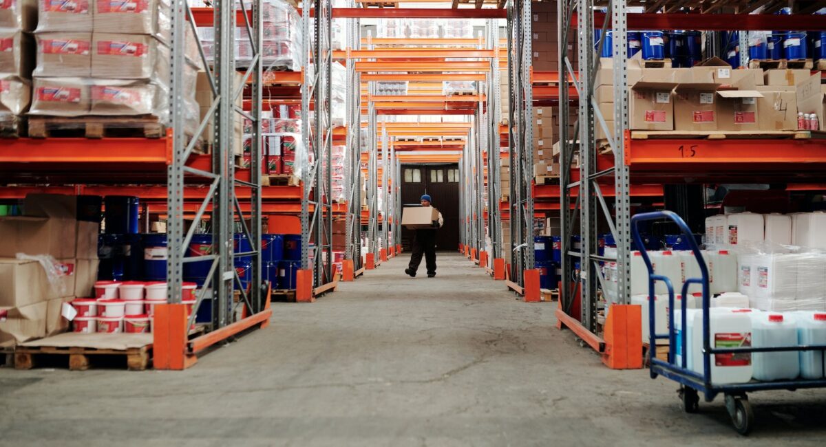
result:
<svg viewBox="0 0 826 447"><path fill-rule="evenodd" d="M311 9L314 19L311 19ZM304 41L301 66L311 75L301 84L301 135L306 158L301 168L304 200L301 200L301 269L313 272L315 287L333 280L332 206L332 3L304 0L301 8ZM311 104L314 120L311 120ZM312 196L312 200L310 197ZM311 210L310 205L315 205ZM311 252L311 242L315 243Z"/></svg>

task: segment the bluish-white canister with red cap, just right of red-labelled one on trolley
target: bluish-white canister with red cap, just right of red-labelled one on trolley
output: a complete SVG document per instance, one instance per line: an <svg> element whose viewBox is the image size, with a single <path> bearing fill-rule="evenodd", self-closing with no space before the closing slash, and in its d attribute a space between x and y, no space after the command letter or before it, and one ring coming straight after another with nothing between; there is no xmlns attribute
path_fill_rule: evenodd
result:
<svg viewBox="0 0 826 447"><path fill-rule="evenodd" d="M797 346L795 318L782 313L752 313L752 346ZM752 354L752 377L755 380L796 379L798 375L800 356L797 351Z"/></svg>

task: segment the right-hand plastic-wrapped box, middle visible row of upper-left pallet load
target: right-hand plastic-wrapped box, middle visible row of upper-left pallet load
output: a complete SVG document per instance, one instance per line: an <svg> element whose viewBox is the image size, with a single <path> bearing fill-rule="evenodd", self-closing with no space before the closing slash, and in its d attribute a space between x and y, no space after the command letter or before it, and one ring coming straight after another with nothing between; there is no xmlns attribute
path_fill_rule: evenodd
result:
<svg viewBox="0 0 826 447"><path fill-rule="evenodd" d="M151 35L96 32L92 41L93 78L169 78L169 47Z"/></svg>

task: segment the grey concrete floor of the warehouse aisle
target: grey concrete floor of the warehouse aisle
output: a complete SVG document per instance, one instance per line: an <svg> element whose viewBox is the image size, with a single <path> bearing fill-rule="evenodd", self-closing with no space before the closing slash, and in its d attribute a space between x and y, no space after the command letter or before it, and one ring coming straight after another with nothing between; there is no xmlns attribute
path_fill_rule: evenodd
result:
<svg viewBox="0 0 826 447"><path fill-rule="evenodd" d="M0 445L823 445L826 391L721 400L612 371L554 303L522 303L456 253L436 278L392 259L183 372L0 369ZM424 269L422 269L423 271Z"/></svg>

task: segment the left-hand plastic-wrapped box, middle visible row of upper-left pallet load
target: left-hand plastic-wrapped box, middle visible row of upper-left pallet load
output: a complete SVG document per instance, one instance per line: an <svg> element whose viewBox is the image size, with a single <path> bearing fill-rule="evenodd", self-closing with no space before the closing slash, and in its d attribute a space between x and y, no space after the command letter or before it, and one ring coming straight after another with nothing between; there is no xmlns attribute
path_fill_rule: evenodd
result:
<svg viewBox="0 0 826 447"><path fill-rule="evenodd" d="M92 73L92 33L48 32L36 35L36 77L88 77Z"/></svg>

